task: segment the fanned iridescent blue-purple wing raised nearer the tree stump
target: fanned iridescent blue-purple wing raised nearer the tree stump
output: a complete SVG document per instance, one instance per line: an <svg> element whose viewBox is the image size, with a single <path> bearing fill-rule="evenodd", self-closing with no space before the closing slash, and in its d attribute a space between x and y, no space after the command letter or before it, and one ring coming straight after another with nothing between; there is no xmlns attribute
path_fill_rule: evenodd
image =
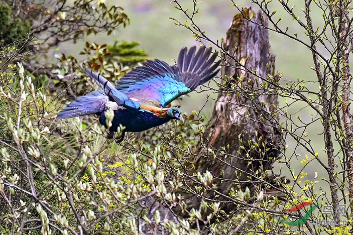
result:
<svg viewBox="0 0 353 235"><path fill-rule="evenodd" d="M117 81L115 88L140 103L165 107L179 96L209 81L219 71L216 68L220 61L213 64L217 53L209 57L212 48L206 49L203 46L196 54L195 51L195 46L189 52L183 48L177 66L170 66L160 60L149 60L143 63L144 66L135 68Z"/></svg>

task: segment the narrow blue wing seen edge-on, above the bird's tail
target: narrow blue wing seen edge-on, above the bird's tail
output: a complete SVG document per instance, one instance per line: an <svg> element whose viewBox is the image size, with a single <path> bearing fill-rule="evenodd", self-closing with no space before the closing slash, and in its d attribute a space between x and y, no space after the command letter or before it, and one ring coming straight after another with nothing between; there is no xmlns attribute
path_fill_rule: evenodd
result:
<svg viewBox="0 0 353 235"><path fill-rule="evenodd" d="M85 65L83 65L83 67L85 68L86 73L93 80L95 80L101 88L103 88L104 93L109 98L109 100L115 101L117 103L117 105L122 106L122 107L130 107L130 108L136 108L136 109L140 108L140 104L137 101L130 99L126 94L117 90L103 76L101 76L98 73L92 72L92 70L87 68Z"/></svg>

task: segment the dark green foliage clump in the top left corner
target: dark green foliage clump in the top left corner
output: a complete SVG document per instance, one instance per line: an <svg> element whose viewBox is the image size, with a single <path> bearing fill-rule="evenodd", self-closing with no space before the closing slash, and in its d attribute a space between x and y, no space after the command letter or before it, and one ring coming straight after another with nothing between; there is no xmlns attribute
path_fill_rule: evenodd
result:
<svg viewBox="0 0 353 235"><path fill-rule="evenodd" d="M5 3L0 3L0 22L0 47L28 38L31 30L29 21L13 19L12 8Z"/></svg>

